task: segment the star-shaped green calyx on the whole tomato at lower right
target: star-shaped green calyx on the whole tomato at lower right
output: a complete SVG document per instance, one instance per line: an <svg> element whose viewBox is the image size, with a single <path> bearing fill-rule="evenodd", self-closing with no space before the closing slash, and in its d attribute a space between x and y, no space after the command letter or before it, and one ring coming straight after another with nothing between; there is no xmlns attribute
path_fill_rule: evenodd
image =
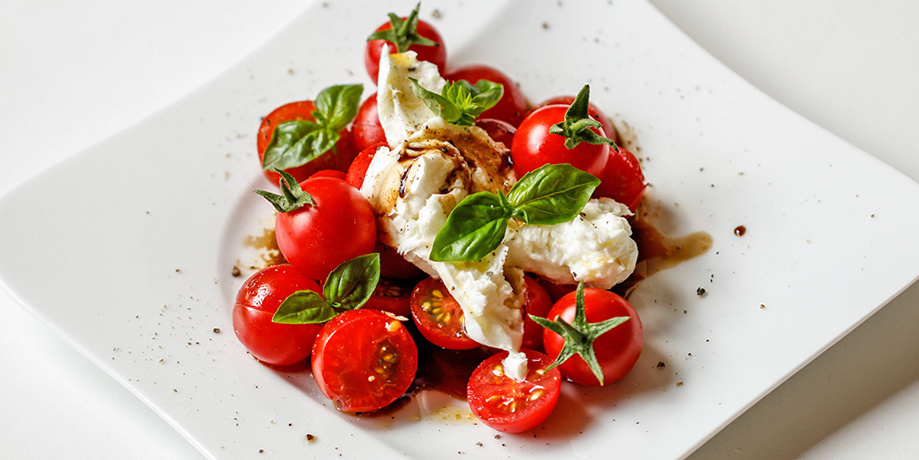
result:
<svg viewBox="0 0 919 460"><path fill-rule="evenodd" d="M628 321L631 317L616 316L597 323L588 323L587 315L584 311L583 281L578 283L576 299L574 321L572 321L571 324L565 322L561 317L556 318L555 321L550 321L546 318L540 318L534 315L529 316L536 324L555 332L565 340L565 345L555 358L555 362L549 366L550 369L561 365L567 361L568 358L577 354L580 355L584 362L587 363L587 366L590 367L591 372L593 372L594 376L600 382L600 386L603 386L603 371L594 353L593 342L614 327Z"/></svg>

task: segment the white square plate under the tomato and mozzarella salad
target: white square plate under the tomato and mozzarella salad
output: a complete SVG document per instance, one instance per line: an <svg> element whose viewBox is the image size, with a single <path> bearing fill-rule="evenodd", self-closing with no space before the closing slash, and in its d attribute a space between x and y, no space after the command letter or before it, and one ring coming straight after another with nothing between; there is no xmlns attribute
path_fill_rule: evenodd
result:
<svg viewBox="0 0 919 460"><path fill-rule="evenodd" d="M268 186L259 117L335 83L371 92L364 37L414 6L378 3L315 5L218 80L0 201L4 285L206 455L684 456L919 275L919 185L763 96L646 2L440 6L451 65L499 67L534 102L591 83L634 132L664 230L714 246L632 296L646 328L633 373L566 386L532 433L496 438L435 397L392 419L337 413L308 373L237 343L231 269L270 212L250 193Z"/></svg>

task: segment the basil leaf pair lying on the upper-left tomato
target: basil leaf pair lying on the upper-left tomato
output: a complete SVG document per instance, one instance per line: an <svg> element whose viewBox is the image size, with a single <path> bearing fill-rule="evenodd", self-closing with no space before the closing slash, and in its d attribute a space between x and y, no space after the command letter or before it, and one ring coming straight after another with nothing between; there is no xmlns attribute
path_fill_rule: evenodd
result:
<svg viewBox="0 0 919 460"><path fill-rule="evenodd" d="M290 169L303 166L329 150L341 138L357 115L364 85L335 85L316 95L314 120L291 120L278 124L265 147L262 169Z"/></svg>

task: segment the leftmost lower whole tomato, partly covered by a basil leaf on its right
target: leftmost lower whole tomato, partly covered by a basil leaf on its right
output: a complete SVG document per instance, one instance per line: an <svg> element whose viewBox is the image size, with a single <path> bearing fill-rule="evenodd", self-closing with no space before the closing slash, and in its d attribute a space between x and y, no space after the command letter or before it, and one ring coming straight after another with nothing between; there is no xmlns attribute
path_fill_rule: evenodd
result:
<svg viewBox="0 0 919 460"><path fill-rule="evenodd" d="M315 281L290 265L274 265L249 277L233 305L236 337L259 361L290 366L310 356L318 324L279 324L271 317L289 295L297 291L320 293Z"/></svg>

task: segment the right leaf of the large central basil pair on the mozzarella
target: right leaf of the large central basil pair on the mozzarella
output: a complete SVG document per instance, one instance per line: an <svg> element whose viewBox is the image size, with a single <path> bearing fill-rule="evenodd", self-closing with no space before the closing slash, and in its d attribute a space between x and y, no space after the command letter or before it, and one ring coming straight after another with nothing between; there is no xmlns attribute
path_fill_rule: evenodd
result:
<svg viewBox="0 0 919 460"><path fill-rule="evenodd" d="M507 194L512 216L528 224L568 222L584 209L600 179L569 164L547 164L525 174Z"/></svg>

